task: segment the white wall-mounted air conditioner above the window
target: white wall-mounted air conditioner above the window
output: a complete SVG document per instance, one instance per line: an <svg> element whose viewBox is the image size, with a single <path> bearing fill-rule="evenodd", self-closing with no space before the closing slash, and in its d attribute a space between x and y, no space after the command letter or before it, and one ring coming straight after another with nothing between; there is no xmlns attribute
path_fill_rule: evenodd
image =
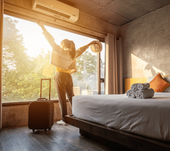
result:
<svg viewBox="0 0 170 151"><path fill-rule="evenodd" d="M79 9L57 0L33 0L32 9L72 23L79 17Z"/></svg>

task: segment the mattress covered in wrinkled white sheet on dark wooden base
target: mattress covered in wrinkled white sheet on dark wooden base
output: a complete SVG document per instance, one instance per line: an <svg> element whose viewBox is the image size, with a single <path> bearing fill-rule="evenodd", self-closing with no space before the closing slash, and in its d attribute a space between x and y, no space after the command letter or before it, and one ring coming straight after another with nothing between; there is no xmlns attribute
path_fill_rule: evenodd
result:
<svg viewBox="0 0 170 151"><path fill-rule="evenodd" d="M170 141L170 93L132 99L125 94L73 97L76 118L154 139Z"/></svg>

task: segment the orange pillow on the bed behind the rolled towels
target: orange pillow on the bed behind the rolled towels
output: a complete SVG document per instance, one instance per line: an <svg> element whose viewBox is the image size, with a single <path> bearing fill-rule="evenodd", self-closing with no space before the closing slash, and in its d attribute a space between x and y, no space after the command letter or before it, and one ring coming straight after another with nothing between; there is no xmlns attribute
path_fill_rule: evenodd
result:
<svg viewBox="0 0 170 151"><path fill-rule="evenodd" d="M149 82L150 88L154 89L155 92L163 92L167 87L170 86L170 83L166 82L161 74L157 74L152 81Z"/></svg>

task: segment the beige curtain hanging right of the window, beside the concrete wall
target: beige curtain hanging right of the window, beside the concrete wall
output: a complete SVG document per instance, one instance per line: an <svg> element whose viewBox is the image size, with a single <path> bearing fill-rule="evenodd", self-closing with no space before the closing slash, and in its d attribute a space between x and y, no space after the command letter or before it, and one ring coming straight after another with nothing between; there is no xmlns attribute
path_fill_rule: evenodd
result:
<svg viewBox="0 0 170 151"><path fill-rule="evenodd" d="M123 93L123 54L122 38L107 34L105 94Z"/></svg>

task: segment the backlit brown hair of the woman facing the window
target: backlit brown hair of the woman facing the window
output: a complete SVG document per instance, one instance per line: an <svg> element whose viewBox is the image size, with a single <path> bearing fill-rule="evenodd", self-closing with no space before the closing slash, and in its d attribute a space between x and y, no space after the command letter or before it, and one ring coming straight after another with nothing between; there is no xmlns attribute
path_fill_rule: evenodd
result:
<svg viewBox="0 0 170 151"><path fill-rule="evenodd" d="M71 56L72 59L74 59L76 53L74 42L68 39L64 39L61 42L64 43L65 48L69 49L69 55Z"/></svg>

